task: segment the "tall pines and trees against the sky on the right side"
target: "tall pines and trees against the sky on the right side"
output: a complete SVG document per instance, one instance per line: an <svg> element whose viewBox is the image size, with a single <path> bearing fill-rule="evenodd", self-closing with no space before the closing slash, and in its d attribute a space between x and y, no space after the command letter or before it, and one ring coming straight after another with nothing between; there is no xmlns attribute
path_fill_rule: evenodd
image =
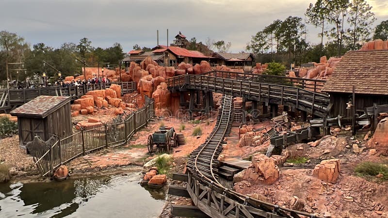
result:
<svg viewBox="0 0 388 218"><path fill-rule="evenodd" d="M376 20L366 0L316 0L305 18L277 19L253 35L245 49L257 54L259 62L318 62L323 55L341 56L371 40ZM307 24L319 29L319 44L307 41ZM387 40L388 21L375 28L373 39ZM325 42L325 43L324 43Z"/></svg>

